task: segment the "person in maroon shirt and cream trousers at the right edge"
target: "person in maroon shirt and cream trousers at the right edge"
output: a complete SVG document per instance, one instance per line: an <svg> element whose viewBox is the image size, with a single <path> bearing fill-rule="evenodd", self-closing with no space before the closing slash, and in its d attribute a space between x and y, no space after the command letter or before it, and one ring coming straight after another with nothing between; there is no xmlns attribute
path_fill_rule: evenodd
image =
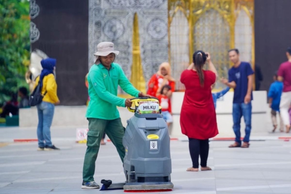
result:
<svg viewBox="0 0 291 194"><path fill-rule="evenodd" d="M290 132L290 116L288 113L291 104L291 47L287 49L288 61L282 63L278 70L278 81L283 82L283 92L280 101L280 112L283 123L286 126L286 133Z"/></svg>

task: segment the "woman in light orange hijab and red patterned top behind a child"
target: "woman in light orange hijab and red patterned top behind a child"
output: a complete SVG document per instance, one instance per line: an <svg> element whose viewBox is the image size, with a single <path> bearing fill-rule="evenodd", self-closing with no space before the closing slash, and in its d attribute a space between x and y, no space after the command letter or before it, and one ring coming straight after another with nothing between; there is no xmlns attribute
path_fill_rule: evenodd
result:
<svg viewBox="0 0 291 194"><path fill-rule="evenodd" d="M175 91L175 79L171 76L171 66L169 63L164 62L160 65L159 71L150 78L148 81L148 91L147 94L153 97L160 93L163 86L171 86L171 90L168 91L168 97L171 98L172 92ZM169 112L171 112L171 107L169 107Z"/></svg>

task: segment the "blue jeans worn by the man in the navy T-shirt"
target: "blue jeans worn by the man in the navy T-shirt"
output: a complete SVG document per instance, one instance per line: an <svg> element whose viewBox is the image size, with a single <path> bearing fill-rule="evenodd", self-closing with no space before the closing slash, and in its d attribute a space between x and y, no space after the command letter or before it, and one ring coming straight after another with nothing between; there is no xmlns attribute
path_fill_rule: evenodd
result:
<svg viewBox="0 0 291 194"><path fill-rule="evenodd" d="M244 116L246 124L244 142L249 142L251 134L251 117L252 117L252 104L233 103L233 131L235 133L235 141L241 144L240 140L240 120Z"/></svg>

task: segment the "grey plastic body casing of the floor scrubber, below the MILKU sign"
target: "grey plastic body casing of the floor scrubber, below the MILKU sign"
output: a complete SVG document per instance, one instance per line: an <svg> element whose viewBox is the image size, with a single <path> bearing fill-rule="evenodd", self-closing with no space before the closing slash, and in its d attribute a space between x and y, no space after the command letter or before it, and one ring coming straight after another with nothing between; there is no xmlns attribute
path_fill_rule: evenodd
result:
<svg viewBox="0 0 291 194"><path fill-rule="evenodd" d="M158 135L159 139L148 139L150 134ZM127 183L171 182L170 136L161 114L135 112L127 120L123 145Z"/></svg>

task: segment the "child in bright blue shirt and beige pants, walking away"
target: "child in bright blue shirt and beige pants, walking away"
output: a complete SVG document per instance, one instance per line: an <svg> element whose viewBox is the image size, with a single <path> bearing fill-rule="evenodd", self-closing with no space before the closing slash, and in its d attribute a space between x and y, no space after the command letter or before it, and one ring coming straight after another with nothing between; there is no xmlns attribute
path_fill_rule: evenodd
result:
<svg viewBox="0 0 291 194"><path fill-rule="evenodd" d="M269 107L272 108L271 111L271 117L272 117L272 122L273 122L273 130L272 132L275 132L278 124L277 124L277 118L276 114L279 112L279 118L280 118L280 131L283 132L283 120L281 118L280 114L280 100L281 100L281 95L282 95L282 90L283 90L283 82L278 81L278 75L277 72L273 76L274 82L271 84L268 92L268 97L269 97Z"/></svg>

